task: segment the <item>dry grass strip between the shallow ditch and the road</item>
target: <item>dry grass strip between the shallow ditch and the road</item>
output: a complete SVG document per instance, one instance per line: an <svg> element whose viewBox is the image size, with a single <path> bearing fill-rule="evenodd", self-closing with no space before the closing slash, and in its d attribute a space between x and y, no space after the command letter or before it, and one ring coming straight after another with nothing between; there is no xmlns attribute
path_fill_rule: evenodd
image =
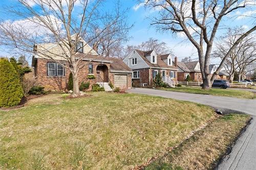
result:
<svg viewBox="0 0 256 170"><path fill-rule="evenodd" d="M220 116L144 169L213 169L250 122L249 115Z"/></svg>

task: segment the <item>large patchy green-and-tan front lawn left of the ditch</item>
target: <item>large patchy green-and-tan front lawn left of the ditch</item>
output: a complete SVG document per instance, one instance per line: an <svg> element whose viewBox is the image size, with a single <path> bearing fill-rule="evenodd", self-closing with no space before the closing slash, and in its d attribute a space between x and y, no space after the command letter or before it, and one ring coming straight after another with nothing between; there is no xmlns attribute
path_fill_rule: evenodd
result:
<svg viewBox="0 0 256 170"><path fill-rule="evenodd" d="M139 94L52 94L0 111L0 169L129 169L214 117L207 106Z"/></svg>

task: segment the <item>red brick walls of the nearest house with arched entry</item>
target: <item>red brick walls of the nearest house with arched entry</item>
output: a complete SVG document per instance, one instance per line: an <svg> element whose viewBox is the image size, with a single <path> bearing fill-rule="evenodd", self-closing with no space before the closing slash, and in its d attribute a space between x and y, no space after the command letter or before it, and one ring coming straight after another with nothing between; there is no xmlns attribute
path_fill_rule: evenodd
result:
<svg viewBox="0 0 256 170"><path fill-rule="evenodd" d="M51 62L47 59L37 59L37 62L34 66L34 74L35 77L39 83L39 85L44 86L47 90L67 90L68 89L68 80L70 71L68 69L65 69L65 75L64 76L48 76L47 74L47 63ZM93 73L89 74L89 66L88 61L82 61L84 62L84 67L82 67L78 72L78 81L79 84L83 82L90 81L90 88L92 85L97 82L103 82L102 79L104 79L104 82L111 82L114 85L114 75L118 74L116 72L110 71L110 63L104 63L104 69L99 69L102 65L100 62L90 62L90 64L93 64ZM63 62L65 63L65 62ZM67 63L67 62L66 62ZM99 70L99 74L97 74L97 67ZM132 76L131 73L125 73L127 75L127 88L131 88L131 81ZM94 75L95 79L88 79L88 75Z"/></svg>

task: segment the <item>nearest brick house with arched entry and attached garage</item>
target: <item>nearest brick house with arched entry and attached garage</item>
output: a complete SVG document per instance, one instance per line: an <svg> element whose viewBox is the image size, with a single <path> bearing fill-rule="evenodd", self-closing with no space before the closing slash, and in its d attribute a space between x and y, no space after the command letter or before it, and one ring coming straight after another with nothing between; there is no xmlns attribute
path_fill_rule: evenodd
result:
<svg viewBox="0 0 256 170"><path fill-rule="evenodd" d="M101 57L91 46L84 44L86 42L81 39L78 43L77 49L79 50L76 54L77 58L83 58L82 62L84 63L84 66L78 72L79 84L82 81L90 81L89 89L95 83L104 86L105 89L110 89L109 83L112 83L115 87L131 88L132 70L122 60ZM61 57L63 51L58 43L36 44L34 53L32 66L38 83L46 89L66 90L70 71L54 61L58 60L59 63L68 64L68 61ZM86 55L87 53L89 55ZM51 58L46 57L44 54L50 55ZM88 75L94 75L95 79L88 79Z"/></svg>

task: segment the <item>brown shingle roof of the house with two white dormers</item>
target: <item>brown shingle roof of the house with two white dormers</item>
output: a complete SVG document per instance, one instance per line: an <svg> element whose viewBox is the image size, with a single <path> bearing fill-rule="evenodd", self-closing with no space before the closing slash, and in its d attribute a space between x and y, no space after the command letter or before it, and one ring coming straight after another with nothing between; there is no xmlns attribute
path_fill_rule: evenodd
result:
<svg viewBox="0 0 256 170"><path fill-rule="evenodd" d="M148 56L148 52L153 52L152 51L148 51L148 52L144 52L144 51L141 51L141 50L136 50L135 51L140 55L140 57L146 62L146 64L150 67L163 67L163 68L169 68L169 69L177 69L176 66L174 65L167 65L162 59L160 56L157 56L157 64L153 64L151 63L150 61L147 60L147 58L145 56ZM150 53L150 54L151 54ZM169 54L168 54L169 55Z"/></svg>

